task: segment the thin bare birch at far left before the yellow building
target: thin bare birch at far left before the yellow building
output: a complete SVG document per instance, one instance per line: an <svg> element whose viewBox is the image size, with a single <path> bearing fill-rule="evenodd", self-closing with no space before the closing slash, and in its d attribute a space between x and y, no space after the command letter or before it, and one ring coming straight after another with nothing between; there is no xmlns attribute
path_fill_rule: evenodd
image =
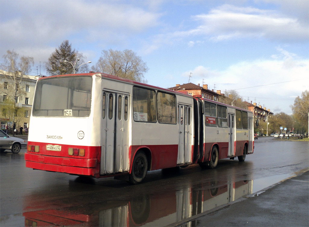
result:
<svg viewBox="0 0 309 227"><path fill-rule="evenodd" d="M15 117L18 112L19 98L22 98L25 94L25 85L22 84L24 75L27 75L33 66L33 57L22 56L18 58L18 54L14 50L7 50L6 55L3 55L4 64L2 68L7 72L7 88L0 88L3 95L6 96L8 103L13 103L12 108L12 120L15 122ZM4 101L4 100L3 100Z"/></svg>

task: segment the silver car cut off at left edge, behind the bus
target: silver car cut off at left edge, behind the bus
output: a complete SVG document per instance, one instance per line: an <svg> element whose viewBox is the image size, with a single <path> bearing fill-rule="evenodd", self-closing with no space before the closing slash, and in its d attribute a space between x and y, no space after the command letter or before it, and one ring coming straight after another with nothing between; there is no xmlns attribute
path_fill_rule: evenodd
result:
<svg viewBox="0 0 309 227"><path fill-rule="evenodd" d="M0 129L0 151L11 150L18 153L20 149L26 148L27 143L23 139L9 136Z"/></svg>

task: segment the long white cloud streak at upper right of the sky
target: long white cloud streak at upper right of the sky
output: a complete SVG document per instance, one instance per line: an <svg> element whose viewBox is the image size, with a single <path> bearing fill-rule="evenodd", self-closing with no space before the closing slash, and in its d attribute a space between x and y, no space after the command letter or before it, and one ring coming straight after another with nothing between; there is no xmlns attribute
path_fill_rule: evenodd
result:
<svg viewBox="0 0 309 227"><path fill-rule="evenodd" d="M200 21L201 34L211 36L211 40L242 37L264 37L271 40L304 41L308 38L307 24L297 18L279 15L273 10L252 7L222 5L208 14L193 16Z"/></svg>

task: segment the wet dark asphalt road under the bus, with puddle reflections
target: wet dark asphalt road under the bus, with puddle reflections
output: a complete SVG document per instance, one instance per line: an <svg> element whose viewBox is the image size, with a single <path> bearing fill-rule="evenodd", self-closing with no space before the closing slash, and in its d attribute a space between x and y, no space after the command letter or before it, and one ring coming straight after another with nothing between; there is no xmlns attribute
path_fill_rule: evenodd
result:
<svg viewBox="0 0 309 227"><path fill-rule="evenodd" d="M25 150L0 155L1 226L166 226L275 184L309 167L309 143L255 140L245 162L147 173L141 185L25 168Z"/></svg>

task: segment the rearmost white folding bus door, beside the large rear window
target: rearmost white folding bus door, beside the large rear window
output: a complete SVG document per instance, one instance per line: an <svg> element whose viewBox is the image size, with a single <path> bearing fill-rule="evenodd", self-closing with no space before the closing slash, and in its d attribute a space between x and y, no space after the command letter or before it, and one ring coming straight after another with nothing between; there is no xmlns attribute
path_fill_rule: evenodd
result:
<svg viewBox="0 0 309 227"><path fill-rule="evenodd" d="M100 174L129 171L129 101L129 94L103 91Z"/></svg>

